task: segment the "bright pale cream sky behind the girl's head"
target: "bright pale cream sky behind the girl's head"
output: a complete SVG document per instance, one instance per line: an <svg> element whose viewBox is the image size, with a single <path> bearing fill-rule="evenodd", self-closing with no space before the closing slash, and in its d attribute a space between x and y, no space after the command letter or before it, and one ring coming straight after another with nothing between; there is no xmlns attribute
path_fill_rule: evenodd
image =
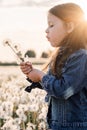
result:
<svg viewBox="0 0 87 130"><path fill-rule="evenodd" d="M12 43L20 45L23 53L26 50L35 50L37 57L43 51L51 48L46 39L45 29L47 28L47 11L49 7L57 3L71 0L54 0L49 7L43 6L23 6L23 2L29 0L2 0L0 3L0 61L15 61L15 55L9 47L3 46L3 41L11 39ZM31 0L32 1L32 0ZM33 0L41 3L48 0ZM52 1L52 0L50 0ZM87 12L87 0L73 0L82 6ZM22 6L20 6L22 5Z"/></svg>

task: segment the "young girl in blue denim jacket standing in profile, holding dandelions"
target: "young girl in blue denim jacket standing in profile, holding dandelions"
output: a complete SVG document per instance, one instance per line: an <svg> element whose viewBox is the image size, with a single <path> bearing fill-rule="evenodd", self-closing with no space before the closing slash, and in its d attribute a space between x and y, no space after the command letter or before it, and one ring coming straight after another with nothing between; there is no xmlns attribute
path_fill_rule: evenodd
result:
<svg viewBox="0 0 87 130"><path fill-rule="evenodd" d="M30 62L20 68L47 92L49 129L87 130L87 22L82 9L74 3L51 8L46 34L57 48L49 71L35 69Z"/></svg>

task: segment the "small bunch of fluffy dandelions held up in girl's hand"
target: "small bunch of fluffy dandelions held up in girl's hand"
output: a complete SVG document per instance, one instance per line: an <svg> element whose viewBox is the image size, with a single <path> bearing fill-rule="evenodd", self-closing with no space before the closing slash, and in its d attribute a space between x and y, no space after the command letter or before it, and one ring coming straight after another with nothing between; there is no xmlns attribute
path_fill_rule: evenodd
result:
<svg viewBox="0 0 87 130"><path fill-rule="evenodd" d="M24 62L25 58L24 55L21 51L21 48L19 47L20 45L12 43L12 41L10 39L5 39L3 41L3 45L7 45L11 48L11 50L15 53L15 55L17 56L17 63L19 64L20 62Z"/></svg>

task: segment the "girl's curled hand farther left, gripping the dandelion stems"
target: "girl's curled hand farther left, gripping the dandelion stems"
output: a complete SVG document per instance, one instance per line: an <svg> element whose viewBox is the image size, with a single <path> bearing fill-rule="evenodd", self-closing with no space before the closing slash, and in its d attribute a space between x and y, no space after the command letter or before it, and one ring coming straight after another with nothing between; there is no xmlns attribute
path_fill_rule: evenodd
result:
<svg viewBox="0 0 87 130"><path fill-rule="evenodd" d="M27 76L33 69L31 62L22 62L20 63L21 71Z"/></svg>

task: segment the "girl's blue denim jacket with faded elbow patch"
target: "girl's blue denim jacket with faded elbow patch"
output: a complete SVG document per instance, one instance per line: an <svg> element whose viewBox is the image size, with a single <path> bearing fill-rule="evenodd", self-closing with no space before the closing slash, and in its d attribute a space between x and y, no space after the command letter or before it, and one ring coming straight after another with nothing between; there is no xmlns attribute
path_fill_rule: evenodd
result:
<svg viewBox="0 0 87 130"><path fill-rule="evenodd" d="M47 114L50 129L87 130L87 50L71 54L61 79L48 73L41 85L50 99Z"/></svg>

